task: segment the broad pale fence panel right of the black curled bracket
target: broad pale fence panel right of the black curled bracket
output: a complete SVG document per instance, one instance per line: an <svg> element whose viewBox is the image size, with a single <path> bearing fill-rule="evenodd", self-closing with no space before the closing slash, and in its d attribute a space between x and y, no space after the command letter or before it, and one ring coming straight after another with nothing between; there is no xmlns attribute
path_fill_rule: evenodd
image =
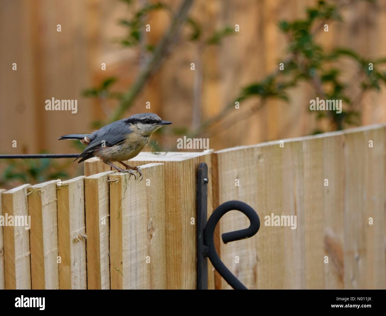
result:
<svg viewBox="0 0 386 316"><path fill-rule="evenodd" d="M379 125L217 151L218 203L240 199L261 220L250 240L220 243L232 273L258 289L384 288L385 131ZM266 226L271 213L296 215L296 229ZM249 223L231 212L220 224L225 233Z"/></svg>

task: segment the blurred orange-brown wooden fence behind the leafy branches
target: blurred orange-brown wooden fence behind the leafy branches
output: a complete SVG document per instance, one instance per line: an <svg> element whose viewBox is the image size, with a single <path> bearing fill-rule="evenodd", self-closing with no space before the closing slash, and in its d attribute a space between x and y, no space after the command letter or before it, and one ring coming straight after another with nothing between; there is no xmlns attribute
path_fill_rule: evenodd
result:
<svg viewBox="0 0 386 316"><path fill-rule="evenodd" d="M176 8L179 1L164 0ZM135 2L137 3L137 2ZM190 63L202 65L202 118L220 113L234 99L240 87L263 78L278 67L285 56L285 40L277 23L304 16L314 0L197 0L191 16L203 25L208 36L225 25L240 25L240 32L208 47L199 54L196 44L176 42L170 56L150 80L127 116L151 111L174 126L191 126L194 76ZM0 150L3 153L71 152L69 143L58 136L86 133L90 123L105 120L100 104L81 96L83 89L103 78L118 76L117 90L127 90L135 80L143 57L138 48L124 49L112 42L125 35L117 25L127 17L127 6L118 0L0 0ZM358 3L343 12L343 23L332 23L318 40L328 48L346 46L368 58L386 55L386 2ZM62 31L56 31L56 25ZM150 43L156 43L168 27L168 14L150 15ZM191 30L185 27L183 36ZM107 64L105 71L101 63ZM17 71L12 71L17 63ZM354 77L349 63L345 76ZM256 144L261 141L303 136L315 129L315 116L307 111L312 88L300 85L291 92L291 104L269 102L266 108L235 124L231 130L210 138L214 149ZM77 99L78 113L46 111L45 100ZM386 121L386 94L367 95L361 104L363 124ZM242 102L240 110L254 105ZM107 108L113 108L111 103ZM248 131L248 133L245 133ZM17 148L12 141L17 140ZM163 139L164 148L173 148L173 137Z"/></svg>

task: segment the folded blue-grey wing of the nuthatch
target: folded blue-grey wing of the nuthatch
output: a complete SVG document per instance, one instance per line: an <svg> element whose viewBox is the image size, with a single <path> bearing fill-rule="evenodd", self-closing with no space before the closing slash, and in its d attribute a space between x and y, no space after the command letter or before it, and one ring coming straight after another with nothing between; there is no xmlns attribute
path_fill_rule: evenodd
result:
<svg viewBox="0 0 386 316"><path fill-rule="evenodd" d="M94 134L95 133L95 134ZM105 144L106 147L112 147L119 143L122 143L126 139L126 135L131 133L131 129L122 122L122 120L109 124L107 126L98 129L93 133L93 140L83 152L74 160L78 160L78 163L81 163L88 158L94 156L94 152L102 147L102 144Z"/></svg>

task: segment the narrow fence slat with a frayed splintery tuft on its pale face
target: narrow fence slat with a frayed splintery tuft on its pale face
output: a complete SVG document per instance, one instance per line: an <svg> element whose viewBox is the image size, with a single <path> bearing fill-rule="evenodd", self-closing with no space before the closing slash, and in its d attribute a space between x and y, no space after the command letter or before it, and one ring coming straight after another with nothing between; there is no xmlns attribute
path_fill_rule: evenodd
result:
<svg viewBox="0 0 386 316"><path fill-rule="evenodd" d="M58 194L60 289L86 289L84 176L63 181Z"/></svg>

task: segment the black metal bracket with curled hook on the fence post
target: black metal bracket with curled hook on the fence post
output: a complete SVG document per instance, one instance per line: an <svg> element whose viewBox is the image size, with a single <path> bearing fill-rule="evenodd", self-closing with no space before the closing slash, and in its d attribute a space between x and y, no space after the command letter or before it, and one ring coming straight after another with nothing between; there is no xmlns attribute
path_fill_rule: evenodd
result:
<svg viewBox="0 0 386 316"><path fill-rule="evenodd" d="M218 257L213 240L218 221L225 213L236 210L244 213L251 224L248 228L222 234L224 243L252 237L260 228L257 213L248 204L241 201L228 201L217 207L207 221L208 202L208 166L200 163L197 172L197 289L208 289L208 260L228 284L236 290L246 290L242 284Z"/></svg>

